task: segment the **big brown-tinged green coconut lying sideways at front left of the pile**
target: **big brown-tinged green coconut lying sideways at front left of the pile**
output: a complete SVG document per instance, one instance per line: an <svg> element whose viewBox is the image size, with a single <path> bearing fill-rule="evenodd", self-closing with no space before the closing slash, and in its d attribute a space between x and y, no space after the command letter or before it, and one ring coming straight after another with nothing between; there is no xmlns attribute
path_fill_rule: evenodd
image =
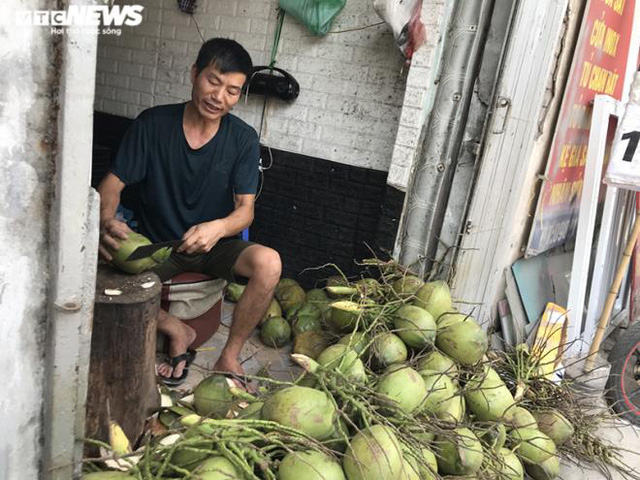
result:
<svg viewBox="0 0 640 480"><path fill-rule="evenodd" d="M333 434L338 412L326 393L294 386L269 397L262 406L261 415L264 420L295 428L322 441Z"/></svg>

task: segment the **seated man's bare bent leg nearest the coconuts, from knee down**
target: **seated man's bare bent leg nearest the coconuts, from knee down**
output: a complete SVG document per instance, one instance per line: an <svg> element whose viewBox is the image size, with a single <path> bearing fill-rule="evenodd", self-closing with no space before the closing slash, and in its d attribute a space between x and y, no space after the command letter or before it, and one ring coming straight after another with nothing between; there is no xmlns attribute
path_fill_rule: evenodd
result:
<svg viewBox="0 0 640 480"><path fill-rule="evenodd" d="M233 270L236 275L247 277L249 283L233 311L229 339L213 369L242 375L240 351L269 308L282 265L278 252L252 245L240 254Z"/></svg>

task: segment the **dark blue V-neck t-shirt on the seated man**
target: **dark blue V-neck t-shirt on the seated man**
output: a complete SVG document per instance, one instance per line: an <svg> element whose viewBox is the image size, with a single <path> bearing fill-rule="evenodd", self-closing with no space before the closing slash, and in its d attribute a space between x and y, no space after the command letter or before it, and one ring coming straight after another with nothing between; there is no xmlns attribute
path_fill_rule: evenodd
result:
<svg viewBox="0 0 640 480"><path fill-rule="evenodd" d="M153 242L178 240L193 225L224 218L234 194L255 194L260 145L238 117L222 117L216 135L192 149L184 135L186 104L142 112L125 134L112 172L137 184L140 233Z"/></svg>

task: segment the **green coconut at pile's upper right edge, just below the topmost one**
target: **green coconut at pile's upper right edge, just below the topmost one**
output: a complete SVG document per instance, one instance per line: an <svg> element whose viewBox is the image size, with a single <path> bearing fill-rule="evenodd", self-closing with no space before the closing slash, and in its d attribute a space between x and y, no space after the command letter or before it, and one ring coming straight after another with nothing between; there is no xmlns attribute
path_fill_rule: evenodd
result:
<svg viewBox="0 0 640 480"><path fill-rule="evenodd" d="M475 365L489 347L487 334L471 317L462 322L438 324L436 346L457 363Z"/></svg>

